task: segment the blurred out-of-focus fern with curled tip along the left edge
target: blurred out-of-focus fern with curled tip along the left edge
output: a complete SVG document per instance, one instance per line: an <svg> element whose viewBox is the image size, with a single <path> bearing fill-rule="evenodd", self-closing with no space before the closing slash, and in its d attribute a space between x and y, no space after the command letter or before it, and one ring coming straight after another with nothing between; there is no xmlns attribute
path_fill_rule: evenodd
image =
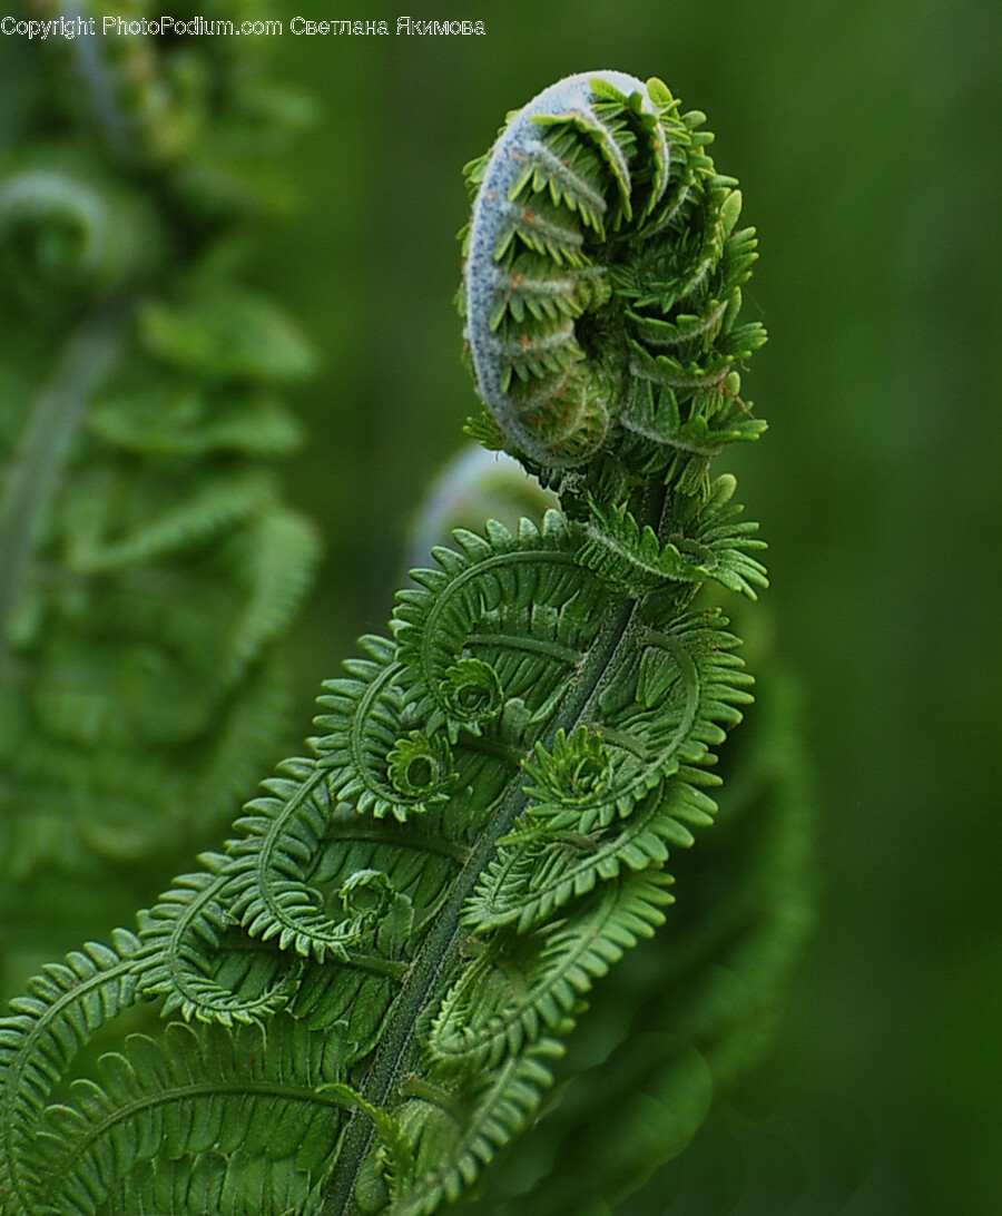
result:
<svg viewBox="0 0 1002 1216"><path fill-rule="evenodd" d="M313 356L237 257L294 109L221 39L55 41L0 146L0 991L280 754L319 548L270 467Z"/></svg>

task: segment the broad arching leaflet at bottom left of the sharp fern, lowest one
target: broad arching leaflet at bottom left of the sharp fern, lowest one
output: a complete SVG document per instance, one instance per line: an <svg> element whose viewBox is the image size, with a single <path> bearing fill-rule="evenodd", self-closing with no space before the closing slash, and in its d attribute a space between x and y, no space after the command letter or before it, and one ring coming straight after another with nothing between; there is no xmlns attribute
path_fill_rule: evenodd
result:
<svg viewBox="0 0 1002 1216"><path fill-rule="evenodd" d="M339 1060L322 1036L283 1018L270 1023L263 1048L259 1028L175 1023L163 1046L134 1035L124 1053L103 1055L97 1080L75 1081L75 1104L51 1107L38 1133L45 1201L91 1216L116 1183L158 1156L240 1152L316 1171L345 1105L332 1083Z"/></svg>

